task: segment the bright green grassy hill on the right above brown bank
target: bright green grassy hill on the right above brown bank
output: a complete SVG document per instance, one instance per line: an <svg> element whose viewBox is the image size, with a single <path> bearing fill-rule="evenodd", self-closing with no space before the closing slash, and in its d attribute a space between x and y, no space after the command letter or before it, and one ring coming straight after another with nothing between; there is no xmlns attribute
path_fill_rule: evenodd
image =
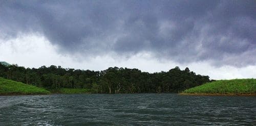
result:
<svg viewBox="0 0 256 126"><path fill-rule="evenodd" d="M256 94L256 79L220 80L187 89L181 94Z"/></svg>

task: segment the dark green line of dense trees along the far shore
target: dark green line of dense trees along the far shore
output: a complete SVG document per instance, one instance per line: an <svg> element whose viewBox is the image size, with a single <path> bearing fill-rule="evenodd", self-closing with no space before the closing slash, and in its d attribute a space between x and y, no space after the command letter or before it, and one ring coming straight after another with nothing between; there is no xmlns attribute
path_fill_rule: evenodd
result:
<svg viewBox="0 0 256 126"><path fill-rule="evenodd" d="M177 93L209 82L209 77L179 67L167 72L110 67L103 71L65 69L61 66L25 68L0 64L0 77L57 91L86 88L95 93Z"/></svg>

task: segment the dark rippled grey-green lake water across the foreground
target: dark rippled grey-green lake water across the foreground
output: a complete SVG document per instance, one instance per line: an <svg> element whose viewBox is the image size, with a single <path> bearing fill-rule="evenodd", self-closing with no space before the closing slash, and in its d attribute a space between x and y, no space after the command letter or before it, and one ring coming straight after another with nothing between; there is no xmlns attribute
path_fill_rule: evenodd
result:
<svg viewBox="0 0 256 126"><path fill-rule="evenodd" d="M256 97L177 94L0 96L0 125L255 125Z"/></svg>

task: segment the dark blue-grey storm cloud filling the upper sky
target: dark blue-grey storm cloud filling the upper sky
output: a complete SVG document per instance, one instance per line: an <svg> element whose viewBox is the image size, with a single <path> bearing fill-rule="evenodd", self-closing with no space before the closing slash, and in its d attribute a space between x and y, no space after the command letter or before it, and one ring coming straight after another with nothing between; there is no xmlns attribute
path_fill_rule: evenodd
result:
<svg viewBox="0 0 256 126"><path fill-rule="evenodd" d="M61 53L256 63L255 1L1 1L0 34L37 32Z"/></svg>

